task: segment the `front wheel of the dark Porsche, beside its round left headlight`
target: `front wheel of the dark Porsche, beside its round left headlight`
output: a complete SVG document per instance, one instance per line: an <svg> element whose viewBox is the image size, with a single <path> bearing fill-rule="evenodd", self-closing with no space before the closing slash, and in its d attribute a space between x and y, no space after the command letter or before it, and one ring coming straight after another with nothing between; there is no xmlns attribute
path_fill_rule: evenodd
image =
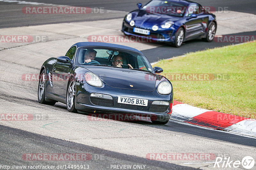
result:
<svg viewBox="0 0 256 170"><path fill-rule="evenodd" d="M77 110L76 110L76 82L75 82L74 78L72 78L68 82L66 103L67 103L68 111L77 113Z"/></svg>

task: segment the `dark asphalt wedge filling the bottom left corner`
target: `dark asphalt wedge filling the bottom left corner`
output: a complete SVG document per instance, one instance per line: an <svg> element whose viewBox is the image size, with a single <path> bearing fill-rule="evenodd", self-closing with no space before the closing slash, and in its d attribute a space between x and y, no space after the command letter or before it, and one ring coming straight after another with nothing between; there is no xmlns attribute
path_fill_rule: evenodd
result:
<svg viewBox="0 0 256 170"><path fill-rule="evenodd" d="M1 154L0 164L36 166L38 161L28 161L21 158L22 153L86 153L91 155L90 160L81 161L40 161L41 166L51 165L89 165L90 169L111 169L111 165L145 165L145 169L194 169L186 166L179 166L156 160L148 160L132 155L111 152L92 146L67 142L64 140L51 138L43 135L29 133L7 126L0 125ZM20 147L22 146L22 147ZM13 152L15 151L15 152ZM17 154L20 153L20 154ZM5 157L8 155L8 157ZM75 168L77 169L77 168Z"/></svg>

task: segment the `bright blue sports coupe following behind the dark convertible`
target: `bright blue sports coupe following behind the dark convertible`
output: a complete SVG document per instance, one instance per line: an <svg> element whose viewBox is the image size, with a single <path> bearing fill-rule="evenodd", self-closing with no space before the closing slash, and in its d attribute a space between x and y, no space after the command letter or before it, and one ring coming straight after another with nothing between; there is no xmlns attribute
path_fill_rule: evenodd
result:
<svg viewBox="0 0 256 170"><path fill-rule="evenodd" d="M180 47L182 42L202 38L212 41L216 17L209 8L187 0L152 0L124 17L122 32Z"/></svg>

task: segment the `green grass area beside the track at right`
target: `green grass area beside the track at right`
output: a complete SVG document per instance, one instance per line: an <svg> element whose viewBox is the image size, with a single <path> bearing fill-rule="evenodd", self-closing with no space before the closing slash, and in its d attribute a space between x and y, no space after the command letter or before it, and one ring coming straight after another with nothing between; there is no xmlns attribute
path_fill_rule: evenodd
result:
<svg viewBox="0 0 256 170"><path fill-rule="evenodd" d="M154 66L169 74L221 74L226 80L171 80L174 99L199 108L256 118L256 42L188 53ZM154 67L153 66L153 67ZM210 75L211 76L211 75Z"/></svg>

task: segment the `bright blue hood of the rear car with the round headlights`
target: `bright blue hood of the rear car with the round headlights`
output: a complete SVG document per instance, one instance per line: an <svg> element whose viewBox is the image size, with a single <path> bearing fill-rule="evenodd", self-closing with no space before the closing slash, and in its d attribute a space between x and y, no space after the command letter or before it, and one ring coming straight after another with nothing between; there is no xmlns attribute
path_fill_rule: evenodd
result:
<svg viewBox="0 0 256 170"><path fill-rule="evenodd" d="M152 27L153 25L164 24L165 21L177 21L179 19L180 17L166 14L147 13L145 10L138 11L136 17L133 18L135 25L140 27Z"/></svg>

